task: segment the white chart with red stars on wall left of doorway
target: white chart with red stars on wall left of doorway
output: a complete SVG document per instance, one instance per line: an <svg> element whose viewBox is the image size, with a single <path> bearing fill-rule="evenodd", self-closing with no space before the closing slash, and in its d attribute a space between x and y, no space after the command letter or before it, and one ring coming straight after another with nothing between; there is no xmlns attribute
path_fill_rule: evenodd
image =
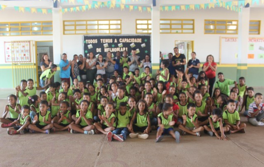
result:
<svg viewBox="0 0 264 167"><path fill-rule="evenodd" d="M30 42L5 42L5 62L27 63L30 60Z"/></svg>

